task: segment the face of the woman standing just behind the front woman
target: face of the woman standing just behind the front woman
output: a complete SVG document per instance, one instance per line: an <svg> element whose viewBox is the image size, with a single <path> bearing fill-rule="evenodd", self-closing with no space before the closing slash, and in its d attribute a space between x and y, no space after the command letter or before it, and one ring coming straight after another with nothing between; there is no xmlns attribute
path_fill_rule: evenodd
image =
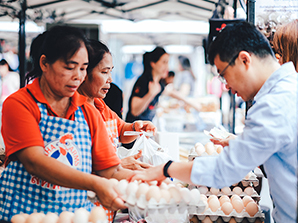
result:
<svg viewBox="0 0 298 223"><path fill-rule="evenodd" d="M110 89L112 70L114 68L112 55L105 53L102 60L88 74L84 82L85 90L91 98L105 98Z"/></svg>

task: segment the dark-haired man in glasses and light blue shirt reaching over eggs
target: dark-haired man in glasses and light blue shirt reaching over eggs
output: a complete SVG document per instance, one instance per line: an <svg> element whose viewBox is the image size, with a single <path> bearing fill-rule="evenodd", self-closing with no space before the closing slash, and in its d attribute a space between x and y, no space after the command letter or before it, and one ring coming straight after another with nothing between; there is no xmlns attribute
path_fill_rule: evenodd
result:
<svg viewBox="0 0 298 223"><path fill-rule="evenodd" d="M298 75L293 63L280 66L267 38L247 22L222 29L210 45L208 59L232 93L244 101L254 100L243 133L218 156L201 156L188 163L169 161L130 180L161 181L170 176L223 188L263 164L274 221L296 223Z"/></svg>

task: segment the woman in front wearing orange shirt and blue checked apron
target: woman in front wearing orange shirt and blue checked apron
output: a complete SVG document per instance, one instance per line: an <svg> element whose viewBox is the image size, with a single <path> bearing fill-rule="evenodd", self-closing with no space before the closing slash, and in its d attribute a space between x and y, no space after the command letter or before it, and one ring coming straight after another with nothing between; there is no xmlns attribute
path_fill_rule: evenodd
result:
<svg viewBox="0 0 298 223"><path fill-rule="evenodd" d="M108 139L98 111L77 93L88 67L88 40L54 26L31 44L32 84L3 103L6 168L0 180L0 219L19 213L91 211L93 191L110 210L126 208L109 178L131 176ZM91 174L95 172L98 176Z"/></svg>

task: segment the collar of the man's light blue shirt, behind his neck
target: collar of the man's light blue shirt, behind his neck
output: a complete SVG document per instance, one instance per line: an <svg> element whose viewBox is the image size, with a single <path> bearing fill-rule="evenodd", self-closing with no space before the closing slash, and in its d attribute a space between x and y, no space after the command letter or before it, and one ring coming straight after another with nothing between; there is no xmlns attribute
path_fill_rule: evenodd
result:
<svg viewBox="0 0 298 223"><path fill-rule="evenodd" d="M270 77L265 81L261 89L256 94L254 100L257 101L263 95L268 94L268 92L275 86L275 84L281 79L285 78L288 75L296 73L294 64L292 62L285 63L281 65L279 69L273 72Z"/></svg>

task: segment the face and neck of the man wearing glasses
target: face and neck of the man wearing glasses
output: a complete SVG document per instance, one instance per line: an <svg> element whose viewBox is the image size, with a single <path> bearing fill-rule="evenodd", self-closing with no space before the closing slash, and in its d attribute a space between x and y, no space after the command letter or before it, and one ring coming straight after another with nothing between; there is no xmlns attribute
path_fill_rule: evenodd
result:
<svg viewBox="0 0 298 223"><path fill-rule="evenodd" d="M249 66L245 63L242 53L239 53L233 65L229 62L220 60L219 55L214 58L214 64L218 73L226 80L226 88L230 89L233 94L241 97L244 101L253 99L255 87L250 79Z"/></svg>

